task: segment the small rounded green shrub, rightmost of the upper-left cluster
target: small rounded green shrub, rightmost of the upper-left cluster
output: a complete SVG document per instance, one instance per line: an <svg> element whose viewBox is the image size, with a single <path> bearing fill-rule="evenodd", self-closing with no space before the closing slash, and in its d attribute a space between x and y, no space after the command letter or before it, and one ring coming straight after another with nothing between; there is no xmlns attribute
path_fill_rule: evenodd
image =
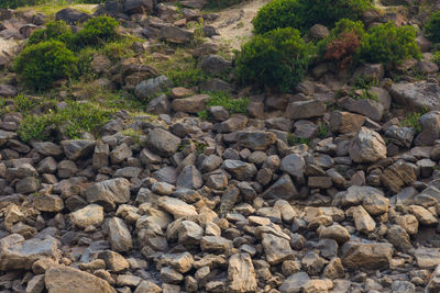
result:
<svg viewBox="0 0 440 293"><path fill-rule="evenodd" d="M76 45L78 47L97 46L103 43L114 41L118 37L117 26L119 22L113 18L98 16L89 20L82 30L76 35Z"/></svg>

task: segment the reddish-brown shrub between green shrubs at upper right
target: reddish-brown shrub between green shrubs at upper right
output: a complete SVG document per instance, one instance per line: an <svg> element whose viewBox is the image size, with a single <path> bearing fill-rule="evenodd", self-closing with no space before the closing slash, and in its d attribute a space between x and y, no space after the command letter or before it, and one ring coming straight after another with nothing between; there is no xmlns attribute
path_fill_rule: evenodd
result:
<svg viewBox="0 0 440 293"><path fill-rule="evenodd" d="M356 33L341 33L327 45L324 58L334 61L340 69L346 69L353 64L360 46L361 37Z"/></svg>

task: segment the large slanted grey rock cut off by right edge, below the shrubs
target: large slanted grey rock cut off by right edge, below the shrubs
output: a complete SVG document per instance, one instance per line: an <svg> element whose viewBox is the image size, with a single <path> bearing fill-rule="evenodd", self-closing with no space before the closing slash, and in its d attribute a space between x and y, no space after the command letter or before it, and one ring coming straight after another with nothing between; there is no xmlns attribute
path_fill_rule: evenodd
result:
<svg viewBox="0 0 440 293"><path fill-rule="evenodd" d="M395 103L407 109L430 109L440 106L440 87L435 82L400 82L389 88L389 93Z"/></svg>

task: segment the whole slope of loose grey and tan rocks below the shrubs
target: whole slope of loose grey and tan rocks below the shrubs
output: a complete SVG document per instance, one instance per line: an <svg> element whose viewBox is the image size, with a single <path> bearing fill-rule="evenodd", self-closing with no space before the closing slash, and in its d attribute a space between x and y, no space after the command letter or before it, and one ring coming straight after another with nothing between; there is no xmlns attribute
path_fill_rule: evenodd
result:
<svg viewBox="0 0 440 293"><path fill-rule="evenodd" d="M194 37L180 24L204 7L182 1L185 21L174 23L174 5L146 18L152 2L124 3L97 13L175 43ZM0 15L0 35L12 40L44 23L32 12ZM222 71L232 65L215 55L209 20L218 15L204 15L212 43L193 54L205 72ZM1 116L1 292L440 292L439 68L419 43L426 54L405 64L403 81L382 65L356 69L378 81L376 99L359 99L353 80L328 64L293 94L208 80L201 87L251 94L248 115L215 105L209 122L194 115L208 95L133 59L106 70L110 60L97 56L101 81L119 80L140 99L167 89L148 106L157 120L119 111L99 137L26 144L16 132L22 114ZM15 95L15 81L0 97ZM427 111L405 123L416 109Z"/></svg>

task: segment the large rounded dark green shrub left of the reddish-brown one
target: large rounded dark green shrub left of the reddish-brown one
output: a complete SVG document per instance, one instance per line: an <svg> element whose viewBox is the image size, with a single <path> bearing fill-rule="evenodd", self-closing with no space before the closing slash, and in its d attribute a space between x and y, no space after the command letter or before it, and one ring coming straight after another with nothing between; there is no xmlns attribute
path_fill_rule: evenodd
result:
<svg viewBox="0 0 440 293"><path fill-rule="evenodd" d="M237 54L237 77L244 84L260 83L286 92L302 79L311 53L311 45L292 27L256 35Z"/></svg>

